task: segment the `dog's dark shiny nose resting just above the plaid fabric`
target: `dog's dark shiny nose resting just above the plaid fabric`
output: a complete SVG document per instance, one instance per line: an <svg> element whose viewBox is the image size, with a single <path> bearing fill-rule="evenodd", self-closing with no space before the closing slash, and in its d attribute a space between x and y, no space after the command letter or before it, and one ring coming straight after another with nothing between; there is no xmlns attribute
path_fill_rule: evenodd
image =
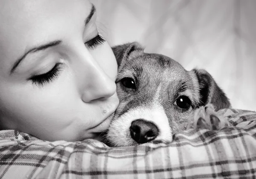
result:
<svg viewBox="0 0 256 179"><path fill-rule="evenodd" d="M143 119L132 121L130 127L131 138L139 144L154 140L159 133L157 126Z"/></svg>

